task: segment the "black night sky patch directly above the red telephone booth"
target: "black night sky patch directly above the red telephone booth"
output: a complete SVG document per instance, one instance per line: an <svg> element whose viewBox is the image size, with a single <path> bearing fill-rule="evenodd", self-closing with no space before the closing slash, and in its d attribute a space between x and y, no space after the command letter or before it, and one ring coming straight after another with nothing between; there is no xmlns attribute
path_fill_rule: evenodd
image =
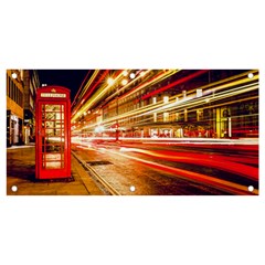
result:
<svg viewBox="0 0 265 265"><path fill-rule="evenodd" d="M71 102L81 87L88 70L38 70L40 83L65 86L71 89Z"/></svg>

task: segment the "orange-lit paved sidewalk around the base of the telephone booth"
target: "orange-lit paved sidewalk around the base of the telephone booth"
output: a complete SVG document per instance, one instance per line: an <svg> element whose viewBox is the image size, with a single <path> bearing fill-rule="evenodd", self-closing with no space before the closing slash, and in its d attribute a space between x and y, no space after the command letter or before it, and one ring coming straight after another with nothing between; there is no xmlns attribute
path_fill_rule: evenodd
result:
<svg viewBox="0 0 265 265"><path fill-rule="evenodd" d="M87 171L72 156L71 180L36 180L35 147L7 148L8 195L103 195Z"/></svg>

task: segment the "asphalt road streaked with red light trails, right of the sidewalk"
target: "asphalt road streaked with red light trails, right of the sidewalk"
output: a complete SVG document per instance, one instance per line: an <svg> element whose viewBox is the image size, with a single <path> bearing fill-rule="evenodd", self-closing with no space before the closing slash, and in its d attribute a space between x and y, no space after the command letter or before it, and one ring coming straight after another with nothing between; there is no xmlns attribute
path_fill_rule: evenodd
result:
<svg viewBox="0 0 265 265"><path fill-rule="evenodd" d="M120 194L258 194L255 146L94 141L72 149Z"/></svg>

